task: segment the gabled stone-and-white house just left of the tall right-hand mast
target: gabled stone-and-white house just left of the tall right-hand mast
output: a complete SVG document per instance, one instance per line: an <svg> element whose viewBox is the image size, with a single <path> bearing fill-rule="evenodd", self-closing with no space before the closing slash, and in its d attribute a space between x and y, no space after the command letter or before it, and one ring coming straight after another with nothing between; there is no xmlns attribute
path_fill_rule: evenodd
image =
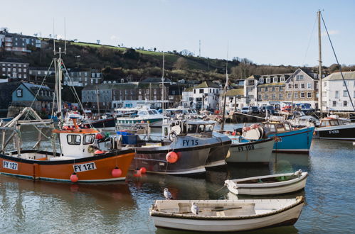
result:
<svg viewBox="0 0 355 234"><path fill-rule="evenodd" d="M309 103L318 108L318 74L307 69L297 69L286 80L284 101L294 104Z"/></svg>

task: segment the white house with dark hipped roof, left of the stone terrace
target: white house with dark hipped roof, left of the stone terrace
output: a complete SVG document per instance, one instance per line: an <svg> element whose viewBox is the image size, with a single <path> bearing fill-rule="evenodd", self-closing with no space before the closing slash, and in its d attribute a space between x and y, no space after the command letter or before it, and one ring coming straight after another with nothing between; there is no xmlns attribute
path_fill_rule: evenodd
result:
<svg viewBox="0 0 355 234"><path fill-rule="evenodd" d="M192 88L193 108L218 108L221 87L213 82L202 82Z"/></svg>

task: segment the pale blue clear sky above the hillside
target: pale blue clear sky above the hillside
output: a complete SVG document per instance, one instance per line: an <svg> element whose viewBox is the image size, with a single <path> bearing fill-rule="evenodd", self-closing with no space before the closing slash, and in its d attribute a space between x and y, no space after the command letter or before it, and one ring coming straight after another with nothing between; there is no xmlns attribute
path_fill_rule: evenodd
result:
<svg viewBox="0 0 355 234"><path fill-rule="evenodd" d="M0 28L11 33L127 48L189 50L258 65L318 65L317 11L340 64L354 65L355 1L112 0L1 1ZM336 62L322 25L322 61Z"/></svg>

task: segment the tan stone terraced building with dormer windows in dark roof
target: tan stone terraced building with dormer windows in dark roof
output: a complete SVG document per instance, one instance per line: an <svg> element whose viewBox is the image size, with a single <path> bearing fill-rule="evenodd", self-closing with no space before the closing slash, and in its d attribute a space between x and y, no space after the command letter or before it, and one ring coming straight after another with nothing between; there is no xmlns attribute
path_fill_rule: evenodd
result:
<svg viewBox="0 0 355 234"><path fill-rule="evenodd" d="M268 74L258 79L258 105L279 105L285 102L286 80L292 74Z"/></svg>

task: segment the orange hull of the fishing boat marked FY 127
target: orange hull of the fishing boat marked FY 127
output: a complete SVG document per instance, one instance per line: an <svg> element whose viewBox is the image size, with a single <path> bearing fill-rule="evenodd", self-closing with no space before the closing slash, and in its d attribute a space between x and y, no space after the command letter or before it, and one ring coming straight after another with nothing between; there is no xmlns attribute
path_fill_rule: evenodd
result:
<svg viewBox="0 0 355 234"><path fill-rule="evenodd" d="M48 155L48 152L43 152L44 155ZM118 181L125 179L133 157L132 150L110 152L76 160L23 160L0 154L0 172L18 177L63 182L71 182L70 176L75 172L78 182ZM122 170L120 177L112 176L112 169L115 167Z"/></svg>

